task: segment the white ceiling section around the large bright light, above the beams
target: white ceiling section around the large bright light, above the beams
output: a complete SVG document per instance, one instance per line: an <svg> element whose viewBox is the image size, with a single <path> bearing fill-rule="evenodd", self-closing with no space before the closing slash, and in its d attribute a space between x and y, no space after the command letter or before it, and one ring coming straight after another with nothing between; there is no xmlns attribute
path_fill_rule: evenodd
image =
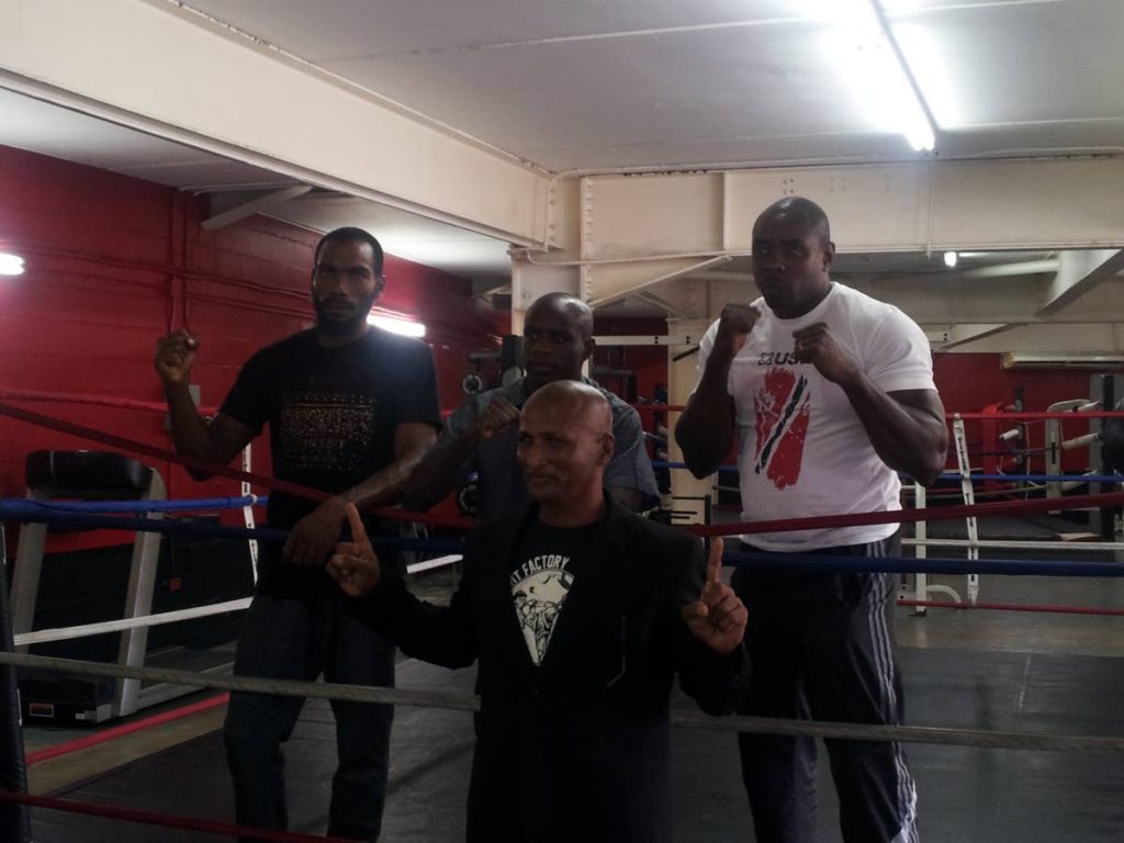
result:
<svg viewBox="0 0 1124 843"><path fill-rule="evenodd" d="M912 158L836 63L843 0L188 0L553 172ZM945 156L1124 142L1124 2L883 0ZM932 62L922 62L932 55Z"/></svg>

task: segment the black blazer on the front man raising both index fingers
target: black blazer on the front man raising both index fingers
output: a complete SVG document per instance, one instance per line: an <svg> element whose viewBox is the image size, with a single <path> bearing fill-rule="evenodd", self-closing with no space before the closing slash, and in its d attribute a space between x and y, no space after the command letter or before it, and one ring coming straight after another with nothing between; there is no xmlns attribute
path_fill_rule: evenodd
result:
<svg viewBox="0 0 1124 843"><path fill-rule="evenodd" d="M541 665L527 651L510 574L533 507L470 536L448 607L393 575L360 616L417 659L479 660L471 843L670 841L673 677L710 714L728 714L749 679L741 647L720 655L680 618L705 579L703 544L608 504Z"/></svg>

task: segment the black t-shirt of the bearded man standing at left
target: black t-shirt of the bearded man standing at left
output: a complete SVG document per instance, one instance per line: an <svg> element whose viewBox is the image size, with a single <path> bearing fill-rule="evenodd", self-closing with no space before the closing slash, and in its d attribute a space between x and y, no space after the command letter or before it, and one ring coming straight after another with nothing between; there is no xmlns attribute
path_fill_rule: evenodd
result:
<svg viewBox="0 0 1124 843"><path fill-rule="evenodd" d="M260 434L268 424L273 475L341 492L395 461L395 429L406 423L441 427L428 346L371 328L326 348L314 330L254 354L220 409ZM271 527L289 529L318 501L270 492ZM378 527L375 527L378 528ZM325 593L320 569L289 569L281 546L261 545L259 589L278 596Z"/></svg>

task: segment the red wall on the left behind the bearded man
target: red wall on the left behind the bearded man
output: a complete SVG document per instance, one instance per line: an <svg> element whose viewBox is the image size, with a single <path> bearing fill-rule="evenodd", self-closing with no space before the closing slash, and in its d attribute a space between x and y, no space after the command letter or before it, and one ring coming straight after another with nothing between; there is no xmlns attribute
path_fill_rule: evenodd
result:
<svg viewBox="0 0 1124 843"><path fill-rule="evenodd" d="M0 277L0 389L161 401L154 342L188 327L201 342L194 381L215 406L252 352L311 324L310 232L263 217L207 232L206 197L8 147L0 197L0 251L26 260L25 274ZM491 347L493 316L464 279L389 255L386 275L379 303L426 323L442 404L456 406L466 355ZM20 406L170 446L160 413ZM0 496L24 493L27 452L82 447L97 446L0 418ZM265 448L255 462L266 468ZM158 468L173 497L234 489Z"/></svg>

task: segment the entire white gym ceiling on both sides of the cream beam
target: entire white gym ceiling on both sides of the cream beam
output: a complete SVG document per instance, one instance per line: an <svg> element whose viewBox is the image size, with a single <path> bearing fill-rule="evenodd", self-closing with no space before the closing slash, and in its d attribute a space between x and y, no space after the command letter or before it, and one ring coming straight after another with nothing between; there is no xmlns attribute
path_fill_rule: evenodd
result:
<svg viewBox="0 0 1124 843"><path fill-rule="evenodd" d="M184 6L554 173L915 161L839 72L843 0L187 0ZM1124 154L1124 0L882 0L937 123L937 157ZM185 71L188 72L188 71ZM334 130L346 130L345 118ZM330 134L326 134L330 137ZM291 180L0 90L0 144L215 194ZM314 191L269 211L357 224L391 253L502 283L507 245ZM1049 255L845 255L864 284ZM745 262L722 268L746 278ZM1035 274L1041 281L1041 275ZM892 284L890 284L892 287ZM1115 287L1115 284L1113 285ZM960 288L958 288L960 289ZM1031 288L1028 288L1031 289ZM1037 288L1033 288L1037 289ZM651 292L660 293L658 289ZM1034 294L1034 293L1031 293ZM610 312L659 312L629 299Z"/></svg>

